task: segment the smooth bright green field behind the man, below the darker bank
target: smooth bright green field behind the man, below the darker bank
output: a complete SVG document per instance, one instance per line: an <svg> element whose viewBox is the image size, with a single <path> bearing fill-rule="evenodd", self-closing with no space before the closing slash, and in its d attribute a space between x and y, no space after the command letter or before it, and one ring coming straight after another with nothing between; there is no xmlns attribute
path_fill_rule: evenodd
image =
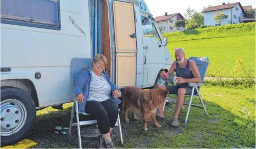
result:
<svg viewBox="0 0 256 149"><path fill-rule="evenodd" d="M235 77L244 76L241 71L232 73L236 60L242 59L243 66L255 75L255 35L176 41L168 43L171 57L175 59L174 49L183 47L186 57L207 56L210 59L207 76Z"/></svg>

